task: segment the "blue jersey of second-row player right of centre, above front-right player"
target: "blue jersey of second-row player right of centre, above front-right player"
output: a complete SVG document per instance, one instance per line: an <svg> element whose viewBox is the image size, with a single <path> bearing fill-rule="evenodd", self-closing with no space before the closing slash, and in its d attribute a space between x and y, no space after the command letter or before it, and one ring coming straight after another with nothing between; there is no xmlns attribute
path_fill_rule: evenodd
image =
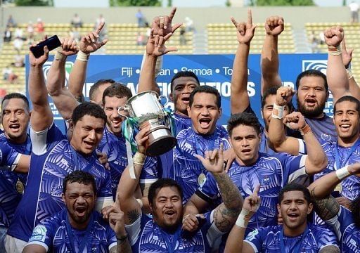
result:
<svg viewBox="0 0 360 253"><path fill-rule="evenodd" d="M228 175L240 190L245 199L251 195L257 185L261 185L259 195L262 199L259 210L248 223L246 233L264 226L275 226L277 220L278 193L286 184L306 174L305 160L307 155L292 156L286 153L269 155L259 153L259 158L251 166L231 164ZM215 205L221 203L219 187L212 174L207 174L203 186L196 191L203 200Z"/></svg>

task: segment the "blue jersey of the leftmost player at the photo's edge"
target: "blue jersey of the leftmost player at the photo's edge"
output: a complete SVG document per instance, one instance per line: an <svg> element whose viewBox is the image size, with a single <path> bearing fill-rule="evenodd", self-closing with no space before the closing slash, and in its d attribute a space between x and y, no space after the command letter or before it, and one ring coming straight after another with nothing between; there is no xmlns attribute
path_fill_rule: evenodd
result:
<svg viewBox="0 0 360 253"><path fill-rule="evenodd" d="M27 136L25 143L14 143L6 138L6 135L0 134L0 143L8 145L20 154L30 155L32 145L30 136ZM15 171L0 171L0 226L8 226L13 219L16 207L21 200L21 196L26 185L27 174L16 173Z"/></svg>

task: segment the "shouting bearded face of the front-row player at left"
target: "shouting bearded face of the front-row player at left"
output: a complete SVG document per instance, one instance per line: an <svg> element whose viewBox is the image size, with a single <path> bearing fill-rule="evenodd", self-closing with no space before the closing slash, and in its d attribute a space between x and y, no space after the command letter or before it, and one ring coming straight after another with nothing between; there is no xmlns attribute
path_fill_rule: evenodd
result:
<svg viewBox="0 0 360 253"><path fill-rule="evenodd" d="M82 227L82 224L89 221L95 207L95 200L95 189L92 184L77 182L67 184L63 201L68 209L72 226Z"/></svg>

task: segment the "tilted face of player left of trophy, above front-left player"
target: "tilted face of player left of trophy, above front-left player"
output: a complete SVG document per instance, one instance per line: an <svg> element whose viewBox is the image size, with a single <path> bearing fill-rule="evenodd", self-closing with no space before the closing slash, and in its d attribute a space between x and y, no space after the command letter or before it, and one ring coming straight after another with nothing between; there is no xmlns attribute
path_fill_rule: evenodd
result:
<svg viewBox="0 0 360 253"><path fill-rule="evenodd" d="M103 119L84 115L73 126L72 147L83 155L91 155L103 138L104 125Z"/></svg>

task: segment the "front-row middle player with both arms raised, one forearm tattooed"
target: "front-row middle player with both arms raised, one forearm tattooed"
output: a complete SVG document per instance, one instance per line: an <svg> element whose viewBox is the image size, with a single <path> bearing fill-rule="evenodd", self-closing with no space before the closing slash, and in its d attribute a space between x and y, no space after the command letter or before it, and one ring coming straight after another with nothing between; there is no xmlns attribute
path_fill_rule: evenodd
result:
<svg viewBox="0 0 360 253"><path fill-rule="evenodd" d="M141 212L135 193L139 185L139 175L146 158L145 142L148 139L146 126L136 135L138 151L134 155L136 179L130 179L129 167L120 179L117 194L125 214L125 228L129 235L133 252L211 252L215 241L228 232L235 223L243 198L223 169L222 145L219 150L209 151L207 159L198 155L209 174L214 175L224 203L212 212L199 214L203 226L196 233L181 233L183 214L183 188L173 179L159 179L150 186L148 202L153 219ZM172 238L172 240L170 240Z"/></svg>

